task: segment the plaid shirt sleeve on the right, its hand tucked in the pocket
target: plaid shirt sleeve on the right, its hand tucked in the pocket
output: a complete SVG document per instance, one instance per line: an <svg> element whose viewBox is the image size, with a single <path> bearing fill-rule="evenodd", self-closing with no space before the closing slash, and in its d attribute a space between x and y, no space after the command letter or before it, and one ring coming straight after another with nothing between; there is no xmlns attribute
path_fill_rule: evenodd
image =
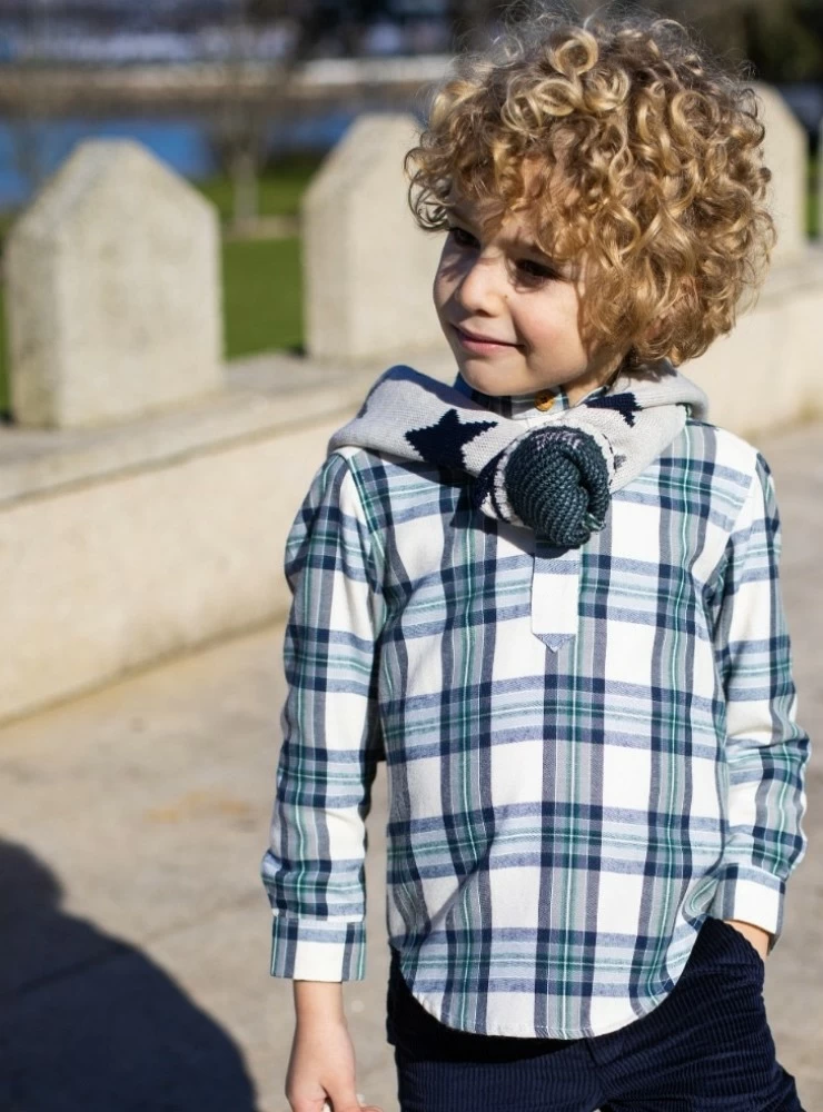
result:
<svg viewBox="0 0 823 1112"><path fill-rule="evenodd" d="M714 628L726 701L728 843L708 913L783 927L786 880L802 861L809 735L797 697L780 589L781 524L771 469L756 471L726 547Z"/></svg>

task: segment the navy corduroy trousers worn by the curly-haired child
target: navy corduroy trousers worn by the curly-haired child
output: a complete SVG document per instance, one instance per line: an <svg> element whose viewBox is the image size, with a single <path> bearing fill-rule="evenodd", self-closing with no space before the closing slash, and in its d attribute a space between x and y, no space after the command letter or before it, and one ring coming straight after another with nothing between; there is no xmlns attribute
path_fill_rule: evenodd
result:
<svg viewBox="0 0 823 1112"><path fill-rule="evenodd" d="M776 1060L765 963L735 927L703 924L654 1011L588 1039L516 1039L440 1023L391 950L386 1034L400 1112L803 1112Z"/></svg>

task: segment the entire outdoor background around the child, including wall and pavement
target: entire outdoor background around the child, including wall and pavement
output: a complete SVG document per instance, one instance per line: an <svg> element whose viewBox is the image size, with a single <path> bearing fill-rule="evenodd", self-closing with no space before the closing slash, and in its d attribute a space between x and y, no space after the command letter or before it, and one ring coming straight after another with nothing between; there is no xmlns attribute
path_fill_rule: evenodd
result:
<svg viewBox="0 0 823 1112"><path fill-rule="evenodd" d="M814 739L823 0L644 7L745 66L766 102L777 266L686 374L777 476ZM284 545L389 359L454 378L439 246L399 168L430 83L505 9L0 0L0 1112L286 1112L291 983L268 975L259 877ZM765 990L807 1112L823 1109L817 763ZM396 1112L387 815L381 762L366 975L344 999L358 1090Z"/></svg>

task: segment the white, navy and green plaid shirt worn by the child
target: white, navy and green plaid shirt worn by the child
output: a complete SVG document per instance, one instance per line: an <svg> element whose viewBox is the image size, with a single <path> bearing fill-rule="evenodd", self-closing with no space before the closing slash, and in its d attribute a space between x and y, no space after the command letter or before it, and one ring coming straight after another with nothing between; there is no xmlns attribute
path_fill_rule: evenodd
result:
<svg viewBox="0 0 823 1112"><path fill-rule="evenodd" d="M364 977L380 759L388 941L448 1026L598 1035L666 997L705 916L773 945L809 757L780 545L766 460L691 418L613 494L576 584L454 473L329 455L286 546L272 975ZM563 625L569 597L573 635L549 645L535 608Z"/></svg>

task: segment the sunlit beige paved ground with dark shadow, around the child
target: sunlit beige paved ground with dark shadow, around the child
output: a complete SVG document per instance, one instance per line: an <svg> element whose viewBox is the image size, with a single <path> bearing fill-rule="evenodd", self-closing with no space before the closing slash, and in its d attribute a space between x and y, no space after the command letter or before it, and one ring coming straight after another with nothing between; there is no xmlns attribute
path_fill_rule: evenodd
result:
<svg viewBox="0 0 823 1112"><path fill-rule="evenodd" d="M823 424L764 439L784 523L801 717L823 731ZM291 982L268 975L258 863L282 629L0 731L0 1112L287 1112ZM7 646L6 652L13 652ZM385 1042L385 768L369 817L367 980L344 993L358 1091L396 1112ZM823 1109L823 762L766 965L779 1055ZM11 1063L11 1068L9 1068Z"/></svg>

